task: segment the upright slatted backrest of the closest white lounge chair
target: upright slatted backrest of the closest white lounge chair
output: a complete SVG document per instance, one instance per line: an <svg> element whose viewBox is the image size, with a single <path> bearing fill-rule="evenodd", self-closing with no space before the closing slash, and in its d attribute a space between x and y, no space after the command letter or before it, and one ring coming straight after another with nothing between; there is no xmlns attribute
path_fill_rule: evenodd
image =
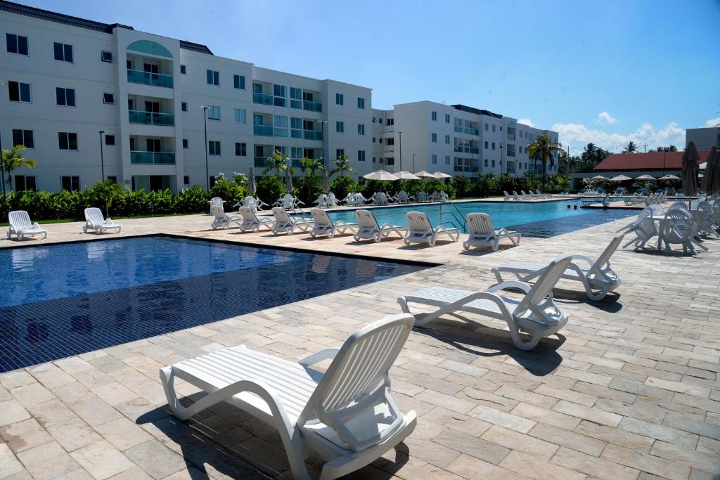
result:
<svg viewBox="0 0 720 480"><path fill-rule="evenodd" d="M402 414L389 396L389 371L412 328L413 317L399 314L350 335L312 393L298 425L302 427L317 417L355 451L377 445L392 435L402 423ZM395 421L382 433L364 428L366 425L348 425L354 417L383 403Z"/></svg>

